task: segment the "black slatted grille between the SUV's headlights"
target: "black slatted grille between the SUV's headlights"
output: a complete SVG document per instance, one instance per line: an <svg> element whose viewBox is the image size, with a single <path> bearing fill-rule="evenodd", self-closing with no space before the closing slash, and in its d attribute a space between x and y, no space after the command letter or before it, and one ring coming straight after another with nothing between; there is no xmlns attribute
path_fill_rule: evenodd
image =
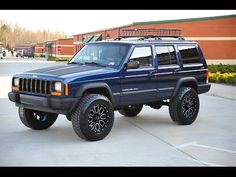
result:
<svg viewBox="0 0 236 177"><path fill-rule="evenodd" d="M19 89L22 92L50 94L51 82L47 80L41 80L41 79L20 78Z"/></svg>

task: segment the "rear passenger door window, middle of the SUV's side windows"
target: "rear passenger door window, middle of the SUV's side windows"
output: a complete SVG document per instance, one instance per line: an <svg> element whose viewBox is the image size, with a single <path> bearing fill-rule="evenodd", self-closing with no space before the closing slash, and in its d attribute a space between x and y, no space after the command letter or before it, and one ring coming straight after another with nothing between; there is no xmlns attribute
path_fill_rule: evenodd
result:
<svg viewBox="0 0 236 177"><path fill-rule="evenodd" d="M173 46L156 46L158 66L176 65L176 55Z"/></svg>

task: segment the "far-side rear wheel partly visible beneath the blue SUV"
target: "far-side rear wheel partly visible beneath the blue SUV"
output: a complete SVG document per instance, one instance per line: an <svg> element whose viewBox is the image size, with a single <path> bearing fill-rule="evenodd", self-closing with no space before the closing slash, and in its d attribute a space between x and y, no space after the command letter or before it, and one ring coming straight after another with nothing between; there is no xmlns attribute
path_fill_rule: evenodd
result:
<svg viewBox="0 0 236 177"><path fill-rule="evenodd" d="M119 110L119 113L127 117L137 116L143 108L143 105L129 105Z"/></svg>

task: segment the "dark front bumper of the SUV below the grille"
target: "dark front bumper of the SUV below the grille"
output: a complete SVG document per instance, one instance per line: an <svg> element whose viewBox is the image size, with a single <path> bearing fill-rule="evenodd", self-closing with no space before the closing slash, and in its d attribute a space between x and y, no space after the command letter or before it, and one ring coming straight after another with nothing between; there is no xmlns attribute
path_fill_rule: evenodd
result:
<svg viewBox="0 0 236 177"><path fill-rule="evenodd" d="M58 114L70 113L79 101L79 98L41 97L15 92L9 92L8 98L15 102L16 106Z"/></svg>

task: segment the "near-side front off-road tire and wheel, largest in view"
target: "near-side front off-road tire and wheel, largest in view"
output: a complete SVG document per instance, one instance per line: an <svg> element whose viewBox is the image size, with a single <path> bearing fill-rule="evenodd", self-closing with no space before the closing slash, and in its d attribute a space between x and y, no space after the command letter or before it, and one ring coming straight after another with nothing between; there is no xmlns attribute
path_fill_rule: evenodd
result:
<svg viewBox="0 0 236 177"><path fill-rule="evenodd" d="M71 114L75 133L82 139L98 141L112 129L114 109L110 100L100 94L85 95Z"/></svg>

